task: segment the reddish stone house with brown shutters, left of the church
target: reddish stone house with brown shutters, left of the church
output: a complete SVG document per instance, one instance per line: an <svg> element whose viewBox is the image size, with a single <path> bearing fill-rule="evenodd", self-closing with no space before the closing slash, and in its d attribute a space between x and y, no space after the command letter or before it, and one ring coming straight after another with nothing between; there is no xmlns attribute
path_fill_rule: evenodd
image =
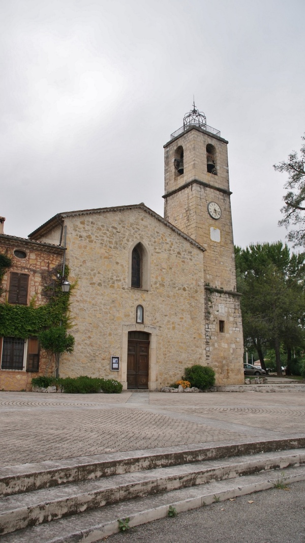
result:
<svg viewBox="0 0 305 543"><path fill-rule="evenodd" d="M0 304L39 307L47 303L43 289L50 281L52 270L60 269L65 249L50 243L8 236L3 233L4 217L0 218L0 253L11 259L2 280ZM2 313L0 318L3 318ZM16 314L16 319L18 315ZM27 327L23 317L24 328ZM0 322L0 328L11 328L14 322ZM37 337L7 335L0 337L0 390L29 390L31 378L45 373L48 358L40 350ZM52 371L52 367L49 368Z"/></svg>

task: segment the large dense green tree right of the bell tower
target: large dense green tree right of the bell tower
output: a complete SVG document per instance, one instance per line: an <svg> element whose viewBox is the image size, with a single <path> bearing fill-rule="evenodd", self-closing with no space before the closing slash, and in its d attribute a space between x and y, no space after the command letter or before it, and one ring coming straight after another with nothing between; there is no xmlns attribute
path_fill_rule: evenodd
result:
<svg viewBox="0 0 305 543"><path fill-rule="evenodd" d="M290 255L282 242L237 247L236 267L245 344L255 345L263 369L263 349L274 348L280 376L281 344L304 343L305 253Z"/></svg>

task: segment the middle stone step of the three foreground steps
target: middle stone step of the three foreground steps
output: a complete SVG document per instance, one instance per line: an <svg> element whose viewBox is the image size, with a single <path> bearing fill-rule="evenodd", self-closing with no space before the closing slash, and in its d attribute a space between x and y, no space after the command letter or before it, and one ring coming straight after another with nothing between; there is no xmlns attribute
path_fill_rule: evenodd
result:
<svg viewBox="0 0 305 543"><path fill-rule="evenodd" d="M135 497L303 464L305 449L267 452L136 471L7 496L0 498L0 534Z"/></svg>

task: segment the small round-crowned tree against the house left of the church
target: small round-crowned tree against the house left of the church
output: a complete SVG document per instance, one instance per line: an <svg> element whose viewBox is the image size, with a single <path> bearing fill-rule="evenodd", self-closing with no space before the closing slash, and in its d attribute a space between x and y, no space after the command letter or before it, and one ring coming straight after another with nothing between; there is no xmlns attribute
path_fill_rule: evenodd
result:
<svg viewBox="0 0 305 543"><path fill-rule="evenodd" d="M43 332L40 332L38 335L38 339L42 349L47 351L49 357L45 374L48 374L52 356L55 355L55 375L58 377L60 355L62 355L63 352L73 352L75 342L74 337L72 334L67 334L64 327L58 326L49 328L48 330L43 330Z"/></svg>

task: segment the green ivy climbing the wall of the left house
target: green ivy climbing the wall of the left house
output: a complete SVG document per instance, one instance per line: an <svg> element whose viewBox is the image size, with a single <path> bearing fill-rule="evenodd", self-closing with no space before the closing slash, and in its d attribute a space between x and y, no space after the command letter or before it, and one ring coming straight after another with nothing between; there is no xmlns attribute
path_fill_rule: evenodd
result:
<svg viewBox="0 0 305 543"><path fill-rule="evenodd" d="M1 276L1 262L5 255L0 255L0 287L4 272ZM5 257L8 258L8 257ZM6 268L10 267L10 263ZM29 306L11 305L8 302L0 304L0 336L18 337L26 339L30 336L37 336L42 330L53 326L68 328L68 293L61 290L61 276L59 269L49 273L49 284L43 289L43 295L48 302L45 305L35 307L35 299L31 300ZM65 278L68 277L68 267L65 268Z"/></svg>

